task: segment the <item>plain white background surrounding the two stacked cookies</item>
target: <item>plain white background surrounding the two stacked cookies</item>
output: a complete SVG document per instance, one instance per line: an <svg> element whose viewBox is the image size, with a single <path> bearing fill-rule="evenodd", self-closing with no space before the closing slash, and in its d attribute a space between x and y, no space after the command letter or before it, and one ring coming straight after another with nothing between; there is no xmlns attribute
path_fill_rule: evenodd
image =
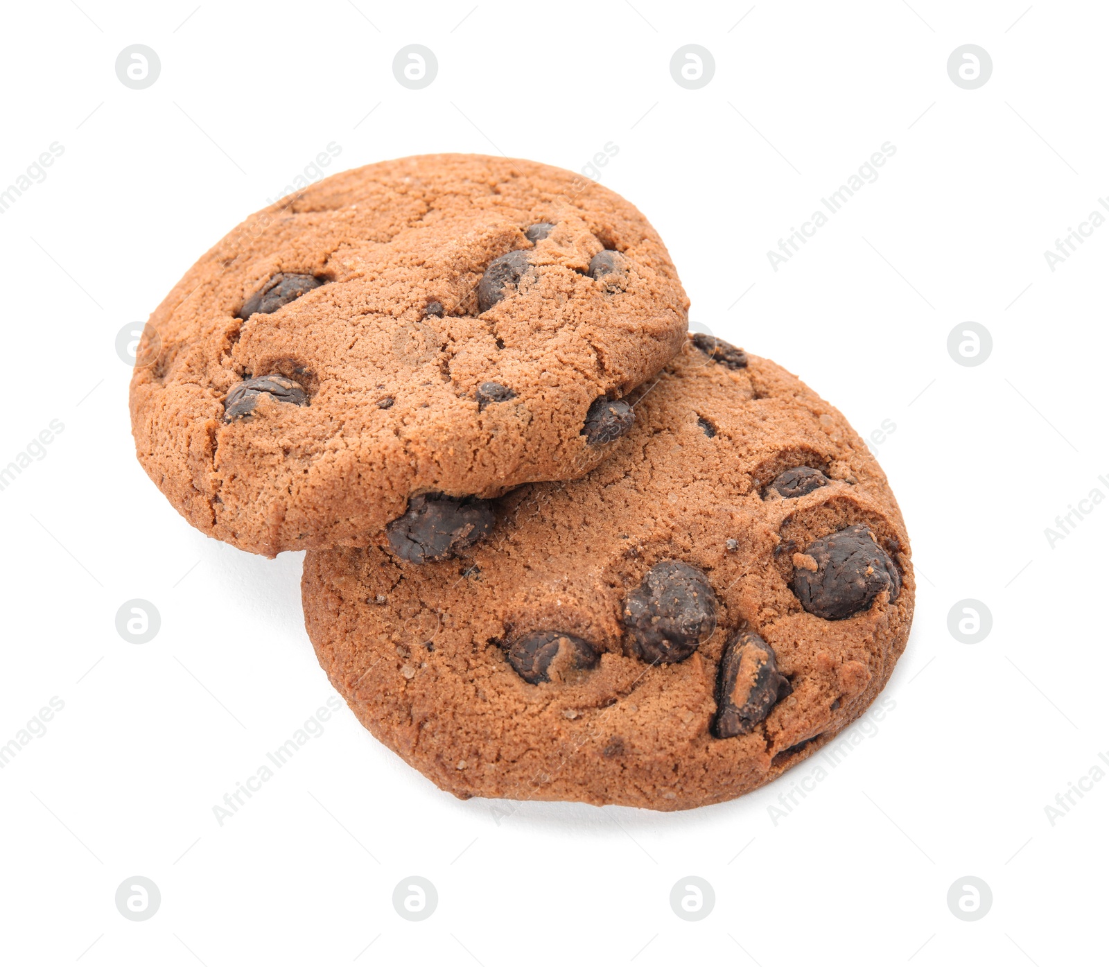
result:
<svg viewBox="0 0 1109 967"><path fill-rule="evenodd" d="M1102 4L79 2L4 8L0 187L64 153L0 216L0 465L64 430L0 491L0 743L64 709L0 770L0 958L1103 961L1109 782L1054 826L1045 806L1109 755L1109 506L1054 548L1044 532L1109 495L1109 226L1055 272L1044 256L1109 197ZM146 90L114 72L132 43L161 59ZM438 58L424 90L393 75L410 43ZM715 59L699 90L670 74L686 43ZM947 73L965 43L993 58L977 90ZM114 339L333 141L328 172L433 151L581 170L613 142L600 180L667 241L691 319L864 436L896 425L875 450L919 582L896 704L784 818L769 807L818 760L682 814L506 818L344 709L217 824L333 693L302 556L203 537L140 469ZM775 272L766 251L884 142L881 177ZM966 320L993 336L977 367L946 348ZM147 644L116 633L132 598L161 613ZM948 632L965 598L993 613L978 644ZM414 874L439 897L421 923L391 902ZM114 903L133 875L161 890L143 923ZM686 875L715 893L696 923L670 907ZM946 900L966 875L993 892L974 923Z"/></svg>

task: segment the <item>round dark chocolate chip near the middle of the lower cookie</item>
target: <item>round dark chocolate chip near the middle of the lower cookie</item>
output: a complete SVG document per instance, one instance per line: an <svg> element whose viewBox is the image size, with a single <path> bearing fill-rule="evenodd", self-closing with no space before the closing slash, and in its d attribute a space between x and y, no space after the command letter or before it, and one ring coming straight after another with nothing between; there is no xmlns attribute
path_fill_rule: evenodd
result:
<svg viewBox="0 0 1109 967"><path fill-rule="evenodd" d="M716 628L709 579L682 561L660 561L624 598L623 624L645 662L683 661Z"/></svg>

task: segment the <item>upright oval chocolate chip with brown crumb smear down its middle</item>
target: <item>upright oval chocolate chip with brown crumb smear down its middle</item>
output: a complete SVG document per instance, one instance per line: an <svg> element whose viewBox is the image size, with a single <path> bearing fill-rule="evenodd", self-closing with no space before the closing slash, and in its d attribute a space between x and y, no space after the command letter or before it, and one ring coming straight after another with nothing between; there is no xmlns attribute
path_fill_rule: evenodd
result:
<svg viewBox="0 0 1109 967"><path fill-rule="evenodd" d="M777 670L774 649L753 631L739 632L720 660L712 734L718 739L750 735L792 691L790 680Z"/></svg>

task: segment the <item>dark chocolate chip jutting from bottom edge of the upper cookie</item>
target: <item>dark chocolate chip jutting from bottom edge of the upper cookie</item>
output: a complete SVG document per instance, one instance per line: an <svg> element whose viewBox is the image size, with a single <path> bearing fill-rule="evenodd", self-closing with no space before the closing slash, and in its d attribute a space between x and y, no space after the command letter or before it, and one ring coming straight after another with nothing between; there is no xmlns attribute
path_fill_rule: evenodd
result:
<svg viewBox="0 0 1109 967"><path fill-rule="evenodd" d="M423 564L441 561L489 535L494 513L488 500L420 493L386 528L389 546L400 559Z"/></svg>

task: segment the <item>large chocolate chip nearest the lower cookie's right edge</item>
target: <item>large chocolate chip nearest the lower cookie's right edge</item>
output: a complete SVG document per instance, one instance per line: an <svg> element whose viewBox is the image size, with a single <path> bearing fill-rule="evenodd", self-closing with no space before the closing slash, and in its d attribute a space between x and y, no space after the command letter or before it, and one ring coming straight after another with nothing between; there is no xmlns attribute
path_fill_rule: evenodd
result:
<svg viewBox="0 0 1109 967"><path fill-rule="evenodd" d="M855 523L814 540L805 554L816 570L797 568L790 587L810 614L830 621L851 618L886 590L891 601L897 600L901 572L865 525Z"/></svg>

